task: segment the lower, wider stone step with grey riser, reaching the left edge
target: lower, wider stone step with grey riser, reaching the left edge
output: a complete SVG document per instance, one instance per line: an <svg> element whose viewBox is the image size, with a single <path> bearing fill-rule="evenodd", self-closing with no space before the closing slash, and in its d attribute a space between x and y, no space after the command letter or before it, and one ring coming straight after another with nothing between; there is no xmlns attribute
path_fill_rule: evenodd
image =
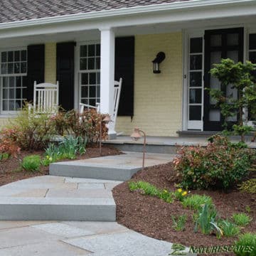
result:
<svg viewBox="0 0 256 256"><path fill-rule="evenodd" d="M121 181L38 176L0 187L0 220L115 221Z"/></svg>

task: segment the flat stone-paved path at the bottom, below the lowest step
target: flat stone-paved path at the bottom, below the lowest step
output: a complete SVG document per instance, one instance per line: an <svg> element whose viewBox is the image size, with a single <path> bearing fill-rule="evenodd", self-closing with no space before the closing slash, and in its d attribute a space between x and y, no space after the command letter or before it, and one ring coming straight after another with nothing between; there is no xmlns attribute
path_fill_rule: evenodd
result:
<svg viewBox="0 0 256 256"><path fill-rule="evenodd" d="M167 256L171 243L115 222L0 221L1 256Z"/></svg>

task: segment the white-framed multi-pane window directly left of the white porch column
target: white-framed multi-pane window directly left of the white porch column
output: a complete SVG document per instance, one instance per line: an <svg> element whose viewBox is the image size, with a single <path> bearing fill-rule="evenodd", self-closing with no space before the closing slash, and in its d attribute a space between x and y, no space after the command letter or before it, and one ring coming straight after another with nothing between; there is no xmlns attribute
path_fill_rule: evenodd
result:
<svg viewBox="0 0 256 256"><path fill-rule="evenodd" d="M100 43L82 43L79 49L80 102L100 102Z"/></svg>

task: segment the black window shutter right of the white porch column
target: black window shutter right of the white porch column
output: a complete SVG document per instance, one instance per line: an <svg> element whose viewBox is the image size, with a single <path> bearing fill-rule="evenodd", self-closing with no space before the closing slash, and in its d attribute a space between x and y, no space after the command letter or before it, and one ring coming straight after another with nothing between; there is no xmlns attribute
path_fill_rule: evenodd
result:
<svg viewBox="0 0 256 256"><path fill-rule="evenodd" d="M115 40L114 79L122 81L118 115L134 115L134 36Z"/></svg>

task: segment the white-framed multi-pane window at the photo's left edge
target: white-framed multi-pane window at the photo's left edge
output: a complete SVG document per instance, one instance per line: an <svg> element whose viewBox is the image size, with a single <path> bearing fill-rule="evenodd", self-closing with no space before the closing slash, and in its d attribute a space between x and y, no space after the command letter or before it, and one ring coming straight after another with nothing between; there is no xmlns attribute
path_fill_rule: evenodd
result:
<svg viewBox="0 0 256 256"><path fill-rule="evenodd" d="M0 111L11 114L21 110L27 73L26 48L0 50Z"/></svg>

